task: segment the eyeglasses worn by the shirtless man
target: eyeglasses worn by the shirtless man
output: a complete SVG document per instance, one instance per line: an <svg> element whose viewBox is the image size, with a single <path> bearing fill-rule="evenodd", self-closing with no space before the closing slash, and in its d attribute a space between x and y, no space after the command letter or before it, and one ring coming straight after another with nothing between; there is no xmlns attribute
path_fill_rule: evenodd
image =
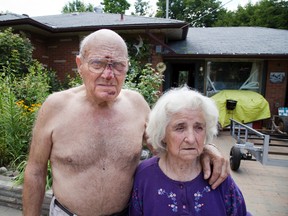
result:
<svg viewBox="0 0 288 216"><path fill-rule="evenodd" d="M121 76L121 75L125 75L128 71L128 65L129 65L129 59L128 58L123 58L123 59L117 59L117 60L112 60L112 59L107 59L107 58L91 58L89 60L87 60L84 56L81 56L81 58L88 64L88 69L90 72L92 73L96 73L96 74L101 74L104 72L104 70L107 68L107 65L110 66L110 68L113 70L113 74L116 76ZM104 64L101 68L96 69L91 65L92 61L98 60L100 63ZM117 70L116 66L114 66L115 63L119 63L122 64L123 66L123 71ZM92 68L92 70L91 70Z"/></svg>

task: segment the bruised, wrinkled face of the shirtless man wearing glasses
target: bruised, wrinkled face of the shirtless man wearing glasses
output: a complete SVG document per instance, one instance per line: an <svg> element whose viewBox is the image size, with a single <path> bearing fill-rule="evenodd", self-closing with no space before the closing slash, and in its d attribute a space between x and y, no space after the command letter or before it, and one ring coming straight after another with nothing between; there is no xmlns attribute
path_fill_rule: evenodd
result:
<svg viewBox="0 0 288 216"><path fill-rule="evenodd" d="M88 42L82 55L76 62L88 97L100 103L113 101L128 71L125 45L118 38L98 38Z"/></svg>

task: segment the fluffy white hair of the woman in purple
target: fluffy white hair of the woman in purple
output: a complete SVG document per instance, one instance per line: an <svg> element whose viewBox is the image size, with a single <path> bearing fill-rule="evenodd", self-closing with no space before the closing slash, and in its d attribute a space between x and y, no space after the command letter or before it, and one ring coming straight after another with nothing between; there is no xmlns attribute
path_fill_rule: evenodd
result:
<svg viewBox="0 0 288 216"><path fill-rule="evenodd" d="M152 144L158 153L166 151L162 140L171 116L187 108L200 109L203 112L206 124L206 144L210 143L217 135L219 112L214 100L187 86L174 88L159 98L149 115L146 128L148 143Z"/></svg>

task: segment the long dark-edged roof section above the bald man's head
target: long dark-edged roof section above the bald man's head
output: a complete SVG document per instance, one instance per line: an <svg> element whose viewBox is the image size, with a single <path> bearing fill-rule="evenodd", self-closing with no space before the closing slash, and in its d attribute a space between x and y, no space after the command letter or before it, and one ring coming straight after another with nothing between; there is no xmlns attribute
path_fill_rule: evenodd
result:
<svg viewBox="0 0 288 216"><path fill-rule="evenodd" d="M23 25L31 25L31 29L34 30L36 27L40 29L38 33L42 34L94 31L99 28L125 31L149 29L153 32L164 32L172 40L184 39L188 29L186 22L175 19L110 13L85 12L36 17L17 14L0 15L0 26L21 28Z"/></svg>

